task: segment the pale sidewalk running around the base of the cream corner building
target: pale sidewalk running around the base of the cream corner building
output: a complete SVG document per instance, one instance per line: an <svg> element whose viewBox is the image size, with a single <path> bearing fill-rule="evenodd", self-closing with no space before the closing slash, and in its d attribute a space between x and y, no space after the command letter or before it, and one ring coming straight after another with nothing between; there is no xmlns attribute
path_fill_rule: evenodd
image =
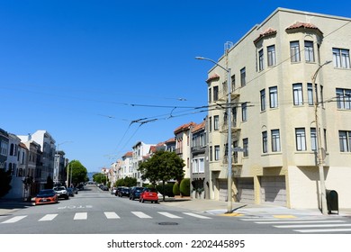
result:
<svg viewBox="0 0 351 252"><path fill-rule="evenodd" d="M250 217L273 217L273 218L295 218L302 216L323 216L319 209L290 209L276 205L257 205L240 202L232 202L231 213L228 213L228 202L215 200L199 200L190 198L166 198L166 202L160 204L184 208L191 211L207 212L224 216L250 216ZM339 209L332 211L328 216L348 216L351 217L351 209Z"/></svg>

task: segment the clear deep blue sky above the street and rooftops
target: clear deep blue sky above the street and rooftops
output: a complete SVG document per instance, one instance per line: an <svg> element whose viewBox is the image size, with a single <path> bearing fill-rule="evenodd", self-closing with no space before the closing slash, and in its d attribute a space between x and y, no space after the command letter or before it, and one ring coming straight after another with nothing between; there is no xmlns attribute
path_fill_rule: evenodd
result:
<svg viewBox="0 0 351 252"><path fill-rule="evenodd" d="M48 130L88 171L109 167L200 123L212 65L194 57L220 58L277 7L351 17L347 0L0 0L0 128Z"/></svg>

